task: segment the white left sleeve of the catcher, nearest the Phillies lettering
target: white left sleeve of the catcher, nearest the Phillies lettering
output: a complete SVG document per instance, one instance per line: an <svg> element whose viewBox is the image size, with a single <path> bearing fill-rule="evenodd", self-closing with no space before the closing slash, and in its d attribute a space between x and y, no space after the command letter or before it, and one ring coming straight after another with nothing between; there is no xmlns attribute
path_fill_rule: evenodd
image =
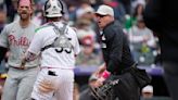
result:
<svg viewBox="0 0 178 100"><path fill-rule="evenodd" d="M42 42L43 42L43 39L42 39L43 35L41 33L36 33L33 40L31 40L31 43L29 45L29 48L28 48L28 52L31 52L34 54L38 54L40 51L41 51L41 48L42 48Z"/></svg>

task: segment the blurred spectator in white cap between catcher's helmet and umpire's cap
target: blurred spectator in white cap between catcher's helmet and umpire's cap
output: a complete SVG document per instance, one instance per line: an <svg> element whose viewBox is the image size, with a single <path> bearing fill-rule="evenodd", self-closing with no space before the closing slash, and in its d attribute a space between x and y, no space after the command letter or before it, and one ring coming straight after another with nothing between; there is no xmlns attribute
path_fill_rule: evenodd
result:
<svg viewBox="0 0 178 100"><path fill-rule="evenodd" d="M96 38L93 30L93 12L94 10L87 2L82 2L80 8L76 11L76 27L78 38L82 38L86 35L90 35Z"/></svg>

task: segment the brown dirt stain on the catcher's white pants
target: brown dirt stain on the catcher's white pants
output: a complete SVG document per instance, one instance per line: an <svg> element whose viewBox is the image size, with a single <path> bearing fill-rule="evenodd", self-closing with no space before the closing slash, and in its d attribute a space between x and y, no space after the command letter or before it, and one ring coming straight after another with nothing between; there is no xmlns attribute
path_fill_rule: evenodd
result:
<svg viewBox="0 0 178 100"><path fill-rule="evenodd" d="M39 91L46 93L46 92L50 92L52 90L55 89L55 86L52 84L51 80L48 79L43 79L38 87Z"/></svg>

